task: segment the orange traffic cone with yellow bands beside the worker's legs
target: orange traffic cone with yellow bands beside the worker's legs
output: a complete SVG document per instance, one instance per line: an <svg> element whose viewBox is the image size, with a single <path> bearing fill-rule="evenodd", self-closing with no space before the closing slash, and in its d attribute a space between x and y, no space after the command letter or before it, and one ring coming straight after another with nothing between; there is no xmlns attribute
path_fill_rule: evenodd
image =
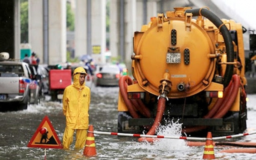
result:
<svg viewBox="0 0 256 160"><path fill-rule="evenodd" d="M84 155L87 157L96 155L95 140L93 134L93 125L89 125L87 139L84 147Z"/></svg>

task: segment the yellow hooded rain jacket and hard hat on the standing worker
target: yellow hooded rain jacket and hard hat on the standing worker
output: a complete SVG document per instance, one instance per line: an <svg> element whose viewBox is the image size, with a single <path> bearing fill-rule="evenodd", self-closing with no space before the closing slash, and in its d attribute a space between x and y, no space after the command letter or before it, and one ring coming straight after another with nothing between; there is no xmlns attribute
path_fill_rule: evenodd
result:
<svg viewBox="0 0 256 160"><path fill-rule="evenodd" d="M78 74L76 74L78 73ZM66 116L66 126L71 129L88 129L90 88L79 83L80 73L85 72L83 67L74 70L73 84L66 87L63 95L63 113Z"/></svg>

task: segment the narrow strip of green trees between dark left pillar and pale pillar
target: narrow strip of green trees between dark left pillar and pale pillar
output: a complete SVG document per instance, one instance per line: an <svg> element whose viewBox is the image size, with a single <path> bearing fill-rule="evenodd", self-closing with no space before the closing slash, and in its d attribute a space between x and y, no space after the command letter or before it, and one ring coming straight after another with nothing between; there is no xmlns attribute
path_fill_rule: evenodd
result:
<svg viewBox="0 0 256 160"><path fill-rule="evenodd" d="M29 41L29 22L28 22L28 1L20 1L20 42L27 43Z"/></svg>

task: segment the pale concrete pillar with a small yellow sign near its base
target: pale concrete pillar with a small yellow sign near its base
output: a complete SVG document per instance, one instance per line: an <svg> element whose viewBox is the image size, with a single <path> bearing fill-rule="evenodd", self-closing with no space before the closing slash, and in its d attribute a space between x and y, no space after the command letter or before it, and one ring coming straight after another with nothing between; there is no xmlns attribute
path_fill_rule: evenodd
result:
<svg viewBox="0 0 256 160"><path fill-rule="evenodd" d="M77 57L81 55L91 55L96 63L105 63L106 1L91 0L90 2L91 12L89 15L91 17L89 23L87 19L87 1L76 0L75 52ZM88 39L88 33L90 33L91 39ZM90 43L88 43L88 41L90 41Z"/></svg>

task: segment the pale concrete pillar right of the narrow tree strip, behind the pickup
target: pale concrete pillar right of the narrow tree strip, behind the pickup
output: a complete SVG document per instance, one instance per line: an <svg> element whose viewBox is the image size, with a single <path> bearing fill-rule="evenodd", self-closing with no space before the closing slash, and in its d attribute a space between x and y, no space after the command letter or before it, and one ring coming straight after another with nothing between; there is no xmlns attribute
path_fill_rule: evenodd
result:
<svg viewBox="0 0 256 160"><path fill-rule="evenodd" d="M29 44L43 62L43 0L29 0Z"/></svg>

